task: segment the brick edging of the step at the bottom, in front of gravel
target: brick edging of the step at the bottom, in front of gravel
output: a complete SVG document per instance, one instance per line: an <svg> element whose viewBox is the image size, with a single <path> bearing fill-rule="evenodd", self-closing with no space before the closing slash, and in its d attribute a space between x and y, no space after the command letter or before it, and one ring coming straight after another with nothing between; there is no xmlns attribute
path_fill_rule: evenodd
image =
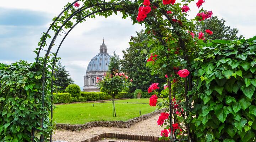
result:
<svg viewBox="0 0 256 142"><path fill-rule="evenodd" d="M92 138L87 138L84 141L80 142L97 142L102 140L102 138L118 138L118 139L126 139L126 140L137 140L137 141L150 141L150 142L169 142L167 140L160 140L158 136L151 135L134 135L134 134L122 134L122 133L102 133ZM116 141L109 141L116 142Z"/></svg>

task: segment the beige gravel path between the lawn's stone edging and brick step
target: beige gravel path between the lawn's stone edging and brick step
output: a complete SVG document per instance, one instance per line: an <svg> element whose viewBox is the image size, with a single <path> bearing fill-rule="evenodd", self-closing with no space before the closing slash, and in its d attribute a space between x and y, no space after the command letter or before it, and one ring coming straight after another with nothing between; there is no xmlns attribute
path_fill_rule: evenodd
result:
<svg viewBox="0 0 256 142"><path fill-rule="evenodd" d="M160 115L160 114L159 114ZM113 127L92 127L82 131L56 130L53 140L63 140L68 142L79 142L87 138L96 136L101 133L132 133L136 135L153 135L160 136L162 128L157 125L159 115L153 116L147 120L138 122L130 128L113 128Z"/></svg>

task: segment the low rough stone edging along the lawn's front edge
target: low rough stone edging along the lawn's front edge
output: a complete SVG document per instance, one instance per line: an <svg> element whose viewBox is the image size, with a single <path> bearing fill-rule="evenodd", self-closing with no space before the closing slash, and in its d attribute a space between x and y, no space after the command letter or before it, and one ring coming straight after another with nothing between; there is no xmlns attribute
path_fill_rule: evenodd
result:
<svg viewBox="0 0 256 142"><path fill-rule="evenodd" d="M117 128L128 128L130 126L133 126L134 124L151 118L154 115L158 115L162 112L165 112L166 109L160 109L157 111L154 111L152 113L144 114L142 116L130 119L128 121L93 121L93 122L87 122L86 124L81 125L70 125L70 124L56 124L57 129L64 129L69 131L80 131L85 130L90 127L117 127Z"/></svg>

